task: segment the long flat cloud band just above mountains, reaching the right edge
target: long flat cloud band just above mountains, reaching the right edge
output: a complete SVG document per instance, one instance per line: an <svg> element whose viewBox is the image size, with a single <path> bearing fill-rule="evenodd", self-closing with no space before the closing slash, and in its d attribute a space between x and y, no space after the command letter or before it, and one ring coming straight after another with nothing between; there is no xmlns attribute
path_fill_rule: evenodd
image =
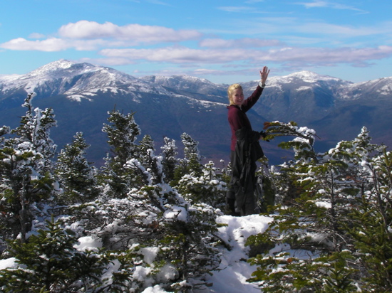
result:
<svg viewBox="0 0 392 293"><path fill-rule="evenodd" d="M147 60L158 63L278 63L290 65L336 65L351 64L364 66L370 60L392 56L392 46L377 48L279 48L274 50L200 50L185 47L154 49L105 49L101 55L116 60ZM129 62L129 61L128 61Z"/></svg>

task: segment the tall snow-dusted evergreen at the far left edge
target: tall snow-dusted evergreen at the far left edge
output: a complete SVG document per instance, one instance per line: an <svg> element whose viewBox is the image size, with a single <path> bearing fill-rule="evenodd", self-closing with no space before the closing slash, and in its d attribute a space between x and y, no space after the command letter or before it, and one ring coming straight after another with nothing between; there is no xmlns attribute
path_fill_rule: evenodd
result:
<svg viewBox="0 0 392 293"><path fill-rule="evenodd" d="M1 227L3 237L26 240L33 217L43 212L42 203L55 194L53 156L56 145L50 129L56 125L51 109L33 110L32 94L24 107L21 125L11 131L14 137L4 139L0 149ZM34 113L35 112L35 113Z"/></svg>

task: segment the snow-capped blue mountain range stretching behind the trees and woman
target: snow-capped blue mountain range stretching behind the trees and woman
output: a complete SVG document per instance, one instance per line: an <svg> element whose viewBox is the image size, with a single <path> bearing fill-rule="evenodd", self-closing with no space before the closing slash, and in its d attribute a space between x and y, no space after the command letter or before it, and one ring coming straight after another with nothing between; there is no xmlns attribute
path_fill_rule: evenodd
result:
<svg viewBox="0 0 392 293"><path fill-rule="evenodd" d="M245 96L258 82L241 83ZM71 143L76 132L83 132L91 144L88 159L97 165L110 151L101 129L108 111L114 109L135 113L140 139L149 134L157 153L163 137L175 139L182 149L180 135L186 132L199 142L205 160L227 162L227 87L187 75L135 78L113 68L57 60L25 75L0 76L0 125L16 127L26 112L21 107L24 99L35 92L33 106L51 107L56 114L58 127L51 130L51 137L58 149ZM392 77L354 83L301 71L270 76L248 117L254 130L271 121L312 128L320 138L316 150L326 151L341 140L354 139L363 126L374 143L391 146L391 110ZM276 140L262 146L271 164L292 156L277 148Z"/></svg>

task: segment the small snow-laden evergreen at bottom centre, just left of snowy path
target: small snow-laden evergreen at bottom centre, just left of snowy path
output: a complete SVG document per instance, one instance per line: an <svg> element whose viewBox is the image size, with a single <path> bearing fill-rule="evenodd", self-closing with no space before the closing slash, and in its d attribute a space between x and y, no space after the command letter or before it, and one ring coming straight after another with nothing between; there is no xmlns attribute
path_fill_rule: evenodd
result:
<svg viewBox="0 0 392 293"><path fill-rule="evenodd" d="M177 272L175 282L166 287L167 291L206 290L206 275L212 275L221 261L215 238L216 217L221 213L204 203L192 206L185 203L172 206L165 215L164 234L160 234L162 238L158 238L153 246L160 247L155 263L165 261Z"/></svg>

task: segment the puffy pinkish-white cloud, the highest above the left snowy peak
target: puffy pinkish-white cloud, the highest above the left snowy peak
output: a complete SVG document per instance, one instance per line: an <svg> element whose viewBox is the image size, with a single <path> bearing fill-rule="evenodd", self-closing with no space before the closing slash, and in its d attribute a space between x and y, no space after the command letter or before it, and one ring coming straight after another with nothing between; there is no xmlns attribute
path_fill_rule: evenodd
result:
<svg viewBox="0 0 392 293"><path fill-rule="evenodd" d="M63 38L93 39L114 38L129 40L134 43L162 43L180 42L197 39L202 36L195 30L179 30L163 26L142 26L140 24L128 24L118 26L114 23L97 23L95 21L78 21L68 23L58 30Z"/></svg>

